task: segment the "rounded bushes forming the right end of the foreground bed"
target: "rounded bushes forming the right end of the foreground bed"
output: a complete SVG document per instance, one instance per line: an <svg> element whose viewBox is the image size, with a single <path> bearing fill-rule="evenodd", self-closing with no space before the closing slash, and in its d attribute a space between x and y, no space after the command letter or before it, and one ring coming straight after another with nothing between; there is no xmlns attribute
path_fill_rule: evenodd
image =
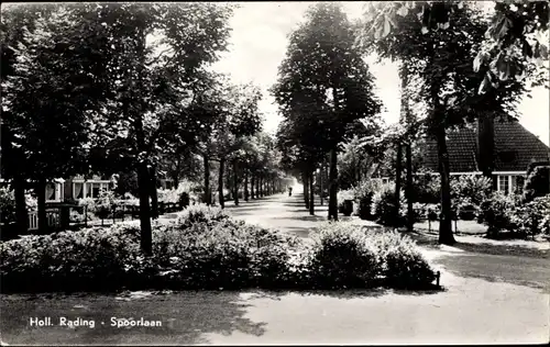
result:
<svg viewBox="0 0 550 347"><path fill-rule="evenodd" d="M326 223L307 253L312 288L385 284L428 288L436 273L415 242L397 232L364 231L351 223Z"/></svg>

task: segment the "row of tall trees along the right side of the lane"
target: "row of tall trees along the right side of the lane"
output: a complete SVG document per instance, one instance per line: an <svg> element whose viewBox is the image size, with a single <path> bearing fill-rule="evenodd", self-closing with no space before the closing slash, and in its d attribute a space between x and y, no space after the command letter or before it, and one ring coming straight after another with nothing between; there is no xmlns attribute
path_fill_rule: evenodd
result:
<svg viewBox="0 0 550 347"><path fill-rule="evenodd" d="M279 146L287 166L307 181L330 153L329 219L337 219L337 150L353 135L355 147L396 148L396 211L402 156L406 155L411 225L411 146L433 138L441 176L440 243L452 244L447 131L481 122L483 171L493 171L493 120L517 119L517 104L548 82L548 2L495 2L485 11L466 1L369 2L355 25L338 4L312 5L290 36L273 93L284 116ZM399 61L402 115L382 127L381 104L363 56ZM541 64L542 63L542 64ZM358 132L359 130L359 132ZM361 146L360 146L361 144ZM374 150L373 150L374 149ZM312 210L311 210L312 211Z"/></svg>

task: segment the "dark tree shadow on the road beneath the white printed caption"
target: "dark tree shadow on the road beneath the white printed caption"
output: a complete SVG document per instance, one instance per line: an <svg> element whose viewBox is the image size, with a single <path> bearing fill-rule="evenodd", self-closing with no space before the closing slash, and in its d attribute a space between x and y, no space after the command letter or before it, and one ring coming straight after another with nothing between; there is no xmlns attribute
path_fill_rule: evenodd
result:
<svg viewBox="0 0 550 347"><path fill-rule="evenodd" d="M250 304L239 292L185 291L131 295L34 295L29 301L2 300L2 338L8 344L45 345L190 345L209 343L205 334L230 335L241 332L261 336L266 323L252 322L244 315ZM26 295L29 296L29 295ZM30 328L29 317L59 316L95 320L96 328L63 326ZM161 327L112 327L111 318L161 321ZM102 323L105 324L102 324Z"/></svg>

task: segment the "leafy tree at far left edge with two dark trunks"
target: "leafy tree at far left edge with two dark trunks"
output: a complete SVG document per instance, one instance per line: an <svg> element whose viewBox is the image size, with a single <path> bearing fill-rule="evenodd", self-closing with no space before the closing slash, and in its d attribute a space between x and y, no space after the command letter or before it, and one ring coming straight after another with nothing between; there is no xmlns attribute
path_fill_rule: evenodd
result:
<svg viewBox="0 0 550 347"><path fill-rule="evenodd" d="M87 168L86 117L100 108L105 97L101 54L106 43L101 34L94 37L88 31L94 16L79 16L65 5L18 5L6 14L2 159L18 198L26 179L34 182L38 228L44 232L46 182ZM25 230L24 204L16 200L18 224Z"/></svg>

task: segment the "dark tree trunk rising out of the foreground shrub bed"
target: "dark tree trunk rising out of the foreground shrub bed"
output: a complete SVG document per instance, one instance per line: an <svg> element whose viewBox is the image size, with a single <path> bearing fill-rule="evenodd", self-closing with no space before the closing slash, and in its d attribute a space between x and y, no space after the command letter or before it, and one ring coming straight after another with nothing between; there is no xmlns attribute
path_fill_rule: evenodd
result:
<svg viewBox="0 0 550 347"><path fill-rule="evenodd" d="M138 191L140 195L141 248L147 256L153 254L151 208L148 204L151 179L147 163L138 165Z"/></svg>

